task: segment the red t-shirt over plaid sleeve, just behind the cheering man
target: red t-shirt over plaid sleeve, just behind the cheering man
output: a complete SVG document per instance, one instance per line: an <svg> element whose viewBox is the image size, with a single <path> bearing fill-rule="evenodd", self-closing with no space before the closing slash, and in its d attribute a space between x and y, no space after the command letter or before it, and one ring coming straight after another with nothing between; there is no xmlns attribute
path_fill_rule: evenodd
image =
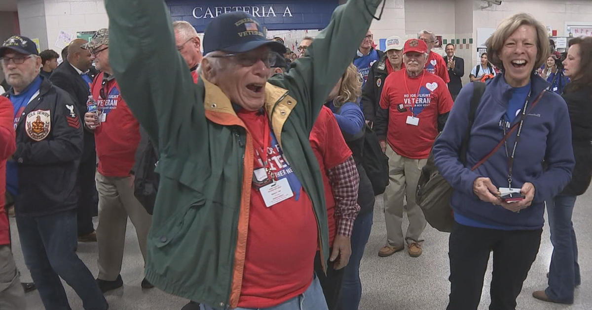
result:
<svg viewBox="0 0 592 310"><path fill-rule="evenodd" d="M335 199L333 198L333 188L327 177L327 171L339 164L343 164L352 151L343 139L341 129L333 112L328 107L323 107L314 123L313 130L308 137L310 146L313 148L314 155L317 156L318 165L323 175L323 187L325 190L325 203L327 204L327 217L329 218L329 246L333 245L333 240L337 233L335 216Z"/></svg>

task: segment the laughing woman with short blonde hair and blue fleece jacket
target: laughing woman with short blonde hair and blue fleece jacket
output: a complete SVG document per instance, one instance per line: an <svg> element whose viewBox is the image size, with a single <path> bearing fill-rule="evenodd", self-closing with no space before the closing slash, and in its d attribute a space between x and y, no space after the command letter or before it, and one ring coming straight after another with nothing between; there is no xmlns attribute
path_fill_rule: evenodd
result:
<svg viewBox="0 0 592 310"><path fill-rule="evenodd" d="M546 92L548 83L535 74L549 56L548 42L546 28L530 15L504 19L485 43L502 73L488 81L481 97L466 161L459 152L475 83L462 88L433 146L436 166L455 190L448 310L477 309L492 251L489 309L516 309L539 251L544 201L570 181L574 155L567 106L561 96ZM504 199L509 192L519 200Z"/></svg>

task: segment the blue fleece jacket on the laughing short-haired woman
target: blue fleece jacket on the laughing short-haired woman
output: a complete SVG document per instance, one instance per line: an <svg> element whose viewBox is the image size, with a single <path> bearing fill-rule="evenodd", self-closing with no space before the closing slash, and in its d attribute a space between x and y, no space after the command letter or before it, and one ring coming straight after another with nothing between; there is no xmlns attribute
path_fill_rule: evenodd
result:
<svg viewBox="0 0 592 310"><path fill-rule="evenodd" d="M534 100L549 84L539 76L533 75L531 79ZM446 126L433 146L436 167L455 189L452 208L455 213L492 226L540 229L544 223L544 201L557 195L568 184L575 164L567 105L558 94L546 92L534 109L529 107L516 149L512 187L520 188L525 182L531 182L535 185L535 198L530 207L514 213L485 203L473 193L473 182L478 177L490 178L496 187L507 187L508 158L504 146L481 167L471 171L471 167L503 138L500 120L507 112L512 87L506 83L503 74L488 82L475 114L466 163L461 164L459 151L468 126L473 89L472 83L462 88ZM519 120L514 119L514 123ZM516 132L507 140L508 148L513 147L515 138ZM546 168L543 168L543 161Z"/></svg>

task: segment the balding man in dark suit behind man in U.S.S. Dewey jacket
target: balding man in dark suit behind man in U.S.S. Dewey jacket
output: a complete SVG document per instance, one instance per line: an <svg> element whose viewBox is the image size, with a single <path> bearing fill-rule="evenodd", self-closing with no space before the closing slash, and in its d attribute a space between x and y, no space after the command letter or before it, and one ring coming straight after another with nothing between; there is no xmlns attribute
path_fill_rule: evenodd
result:
<svg viewBox="0 0 592 310"><path fill-rule="evenodd" d="M90 93L89 84L96 74L92 70L91 52L82 48L86 40L76 39L68 45L67 59L53 71L50 81L65 90L76 103L78 113L86 112L86 100ZM84 131L84 150L78 171L78 241L96 242L92 216L96 214L98 194L95 187L95 136L88 130Z"/></svg>

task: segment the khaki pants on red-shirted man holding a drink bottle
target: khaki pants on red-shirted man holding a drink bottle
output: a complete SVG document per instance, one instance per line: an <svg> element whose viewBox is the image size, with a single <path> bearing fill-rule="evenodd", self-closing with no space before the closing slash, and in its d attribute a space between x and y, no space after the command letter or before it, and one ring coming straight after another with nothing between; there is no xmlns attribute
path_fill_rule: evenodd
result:
<svg viewBox="0 0 592 310"><path fill-rule="evenodd" d="M96 172L95 181L99 193L99 224L96 226L98 278L112 281L121 272L127 217L136 227L140 251L146 262L146 239L152 216L134 196L133 177L105 177Z"/></svg>

